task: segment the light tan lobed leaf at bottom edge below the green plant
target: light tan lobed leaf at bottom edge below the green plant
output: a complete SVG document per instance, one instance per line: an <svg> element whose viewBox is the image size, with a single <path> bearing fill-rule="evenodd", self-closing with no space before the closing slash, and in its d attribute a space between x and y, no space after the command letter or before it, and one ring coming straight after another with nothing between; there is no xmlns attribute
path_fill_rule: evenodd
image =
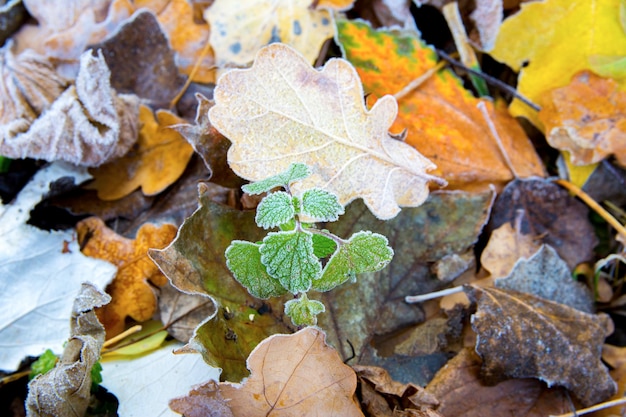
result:
<svg viewBox="0 0 626 417"><path fill-rule="evenodd" d="M270 336L250 354L248 368L251 376L243 384L205 384L171 401L170 407L196 416L221 397L234 416L294 416L312 410L317 415L363 415L354 398L354 371L326 345L324 332L317 328ZM217 398L209 396L211 388L217 389L212 394Z"/></svg>

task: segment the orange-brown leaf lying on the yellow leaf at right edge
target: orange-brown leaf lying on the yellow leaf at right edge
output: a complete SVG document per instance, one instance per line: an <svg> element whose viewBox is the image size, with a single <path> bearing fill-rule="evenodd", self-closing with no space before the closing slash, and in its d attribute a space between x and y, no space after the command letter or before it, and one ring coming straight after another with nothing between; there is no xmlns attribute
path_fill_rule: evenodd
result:
<svg viewBox="0 0 626 417"><path fill-rule="evenodd" d="M569 152L574 165L615 155L626 167L626 93L617 82L588 71L545 93L539 120L550 146Z"/></svg>

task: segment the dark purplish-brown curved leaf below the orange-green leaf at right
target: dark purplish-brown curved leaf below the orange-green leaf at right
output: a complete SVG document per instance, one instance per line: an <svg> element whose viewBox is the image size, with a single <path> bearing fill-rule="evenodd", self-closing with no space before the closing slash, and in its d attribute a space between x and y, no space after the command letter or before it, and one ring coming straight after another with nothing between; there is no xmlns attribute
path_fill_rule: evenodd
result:
<svg viewBox="0 0 626 417"><path fill-rule="evenodd" d="M520 210L519 232L552 246L570 269L593 259L597 239L589 210L566 190L541 178L513 180L498 195L488 228L515 224Z"/></svg>

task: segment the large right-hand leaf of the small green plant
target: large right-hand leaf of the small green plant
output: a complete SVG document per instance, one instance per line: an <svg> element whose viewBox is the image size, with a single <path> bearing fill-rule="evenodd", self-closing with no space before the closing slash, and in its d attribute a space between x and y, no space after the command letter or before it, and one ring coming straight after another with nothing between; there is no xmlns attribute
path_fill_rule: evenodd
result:
<svg viewBox="0 0 626 417"><path fill-rule="evenodd" d="M356 274L376 272L383 269L393 258L393 249L387 238L378 233L360 231L330 258L319 280L313 281L317 291L329 291L348 279L356 280Z"/></svg>

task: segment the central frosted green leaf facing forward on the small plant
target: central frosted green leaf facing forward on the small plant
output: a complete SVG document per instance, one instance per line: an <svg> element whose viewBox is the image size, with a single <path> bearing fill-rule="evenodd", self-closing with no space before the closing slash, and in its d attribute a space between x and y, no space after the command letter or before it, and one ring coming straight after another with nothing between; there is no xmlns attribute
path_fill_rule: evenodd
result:
<svg viewBox="0 0 626 417"><path fill-rule="evenodd" d="M308 291L311 280L322 273L322 265L313 253L313 238L309 232L269 233L259 250L267 273L277 278L292 294Z"/></svg>

